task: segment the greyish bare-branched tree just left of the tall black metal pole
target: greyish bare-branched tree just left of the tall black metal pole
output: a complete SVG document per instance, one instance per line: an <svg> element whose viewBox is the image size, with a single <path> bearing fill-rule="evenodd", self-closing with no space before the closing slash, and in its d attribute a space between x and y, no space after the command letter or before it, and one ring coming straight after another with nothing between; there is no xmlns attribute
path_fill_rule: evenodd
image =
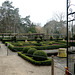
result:
<svg viewBox="0 0 75 75"><path fill-rule="evenodd" d="M47 22L44 25L45 32L48 34L66 34L66 24L65 24L65 15L63 12L55 13L53 15L53 20ZM64 29L63 29L64 28ZM61 31L62 30L62 31Z"/></svg>

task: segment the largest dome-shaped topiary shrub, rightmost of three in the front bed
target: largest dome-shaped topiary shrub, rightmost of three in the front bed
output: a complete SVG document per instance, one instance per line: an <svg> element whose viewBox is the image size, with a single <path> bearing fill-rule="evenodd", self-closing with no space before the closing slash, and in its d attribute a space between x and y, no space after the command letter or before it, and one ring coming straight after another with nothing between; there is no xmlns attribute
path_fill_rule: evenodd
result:
<svg viewBox="0 0 75 75"><path fill-rule="evenodd" d="M47 60L47 54L44 51L37 50L33 53L33 59L36 61Z"/></svg>

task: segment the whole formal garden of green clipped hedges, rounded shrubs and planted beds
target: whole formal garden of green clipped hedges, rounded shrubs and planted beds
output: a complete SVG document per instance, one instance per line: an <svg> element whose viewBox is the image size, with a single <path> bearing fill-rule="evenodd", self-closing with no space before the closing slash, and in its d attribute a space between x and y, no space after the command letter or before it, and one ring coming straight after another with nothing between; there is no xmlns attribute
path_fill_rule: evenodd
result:
<svg viewBox="0 0 75 75"><path fill-rule="evenodd" d="M75 46L74 38L70 38L69 47ZM43 50L54 50L59 48L66 48L66 38L61 39L50 37L44 39L42 35L34 36L34 39L28 39L27 36L17 38L17 36L3 37L1 41L23 59L35 65L51 65L51 59L48 58L47 53Z"/></svg>

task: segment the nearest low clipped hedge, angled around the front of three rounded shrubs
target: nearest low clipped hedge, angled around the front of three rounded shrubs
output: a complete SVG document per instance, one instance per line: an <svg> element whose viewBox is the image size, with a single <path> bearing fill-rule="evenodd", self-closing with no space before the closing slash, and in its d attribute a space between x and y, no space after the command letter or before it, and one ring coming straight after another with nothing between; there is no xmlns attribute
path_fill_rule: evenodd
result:
<svg viewBox="0 0 75 75"><path fill-rule="evenodd" d="M26 56L25 54L22 54L21 52L18 52L18 55L22 57L23 59L27 60L28 62L38 65L38 66L49 66L51 65L51 59L47 58L48 60L45 61L35 61L34 59Z"/></svg>

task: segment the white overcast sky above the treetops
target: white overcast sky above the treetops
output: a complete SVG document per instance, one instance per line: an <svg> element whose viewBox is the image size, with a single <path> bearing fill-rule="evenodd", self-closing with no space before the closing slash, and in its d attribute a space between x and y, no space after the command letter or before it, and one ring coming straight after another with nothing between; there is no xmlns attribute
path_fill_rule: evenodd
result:
<svg viewBox="0 0 75 75"><path fill-rule="evenodd" d="M0 5L5 0L0 0ZM43 26L52 19L55 12L66 13L66 0L9 0L15 8L19 8L22 17L30 15L34 23L41 23ZM74 0L75 1L75 0Z"/></svg>

